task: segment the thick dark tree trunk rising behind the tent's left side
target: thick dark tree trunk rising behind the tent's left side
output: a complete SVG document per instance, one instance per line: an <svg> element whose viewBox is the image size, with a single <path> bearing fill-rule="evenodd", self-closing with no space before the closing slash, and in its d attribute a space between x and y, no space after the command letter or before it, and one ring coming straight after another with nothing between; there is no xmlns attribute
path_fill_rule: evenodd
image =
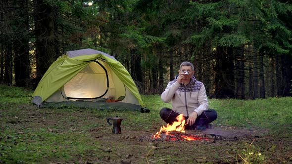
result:
<svg viewBox="0 0 292 164"><path fill-rule="evenodd" d="M55 18L53 8L45 0L35 2L35 35L37 81L40 81L49 66L57 58L55 46Z"/></svg>

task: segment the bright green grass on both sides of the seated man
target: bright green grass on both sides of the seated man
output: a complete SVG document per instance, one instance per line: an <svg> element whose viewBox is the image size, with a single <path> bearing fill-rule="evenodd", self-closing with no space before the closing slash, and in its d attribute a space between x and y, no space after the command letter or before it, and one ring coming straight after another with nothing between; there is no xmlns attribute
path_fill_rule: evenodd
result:
<svg viewBox="0 0 292 164"><path fill-rule="evenodd" d="M160 95L144 95L142 98L146 106L155 112L153 119L157 119L162 107L171 108L170 103L161 101ZM209 99L209 108L215 109L218 113L218 118L213 123L219 126L278 128L290 125L292 124L291 107L292 97L256 100Z"/></svg>

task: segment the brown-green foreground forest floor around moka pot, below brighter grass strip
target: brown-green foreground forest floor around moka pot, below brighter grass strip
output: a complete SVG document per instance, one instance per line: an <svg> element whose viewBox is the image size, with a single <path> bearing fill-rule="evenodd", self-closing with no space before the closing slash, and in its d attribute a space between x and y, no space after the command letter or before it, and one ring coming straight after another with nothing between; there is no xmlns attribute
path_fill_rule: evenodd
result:
<svg viewBox="0 0 292 164"><path fill-rule="evenodd" d="M146 113L2 105L0 164L292 164L292 125L277 129L213 125L186 133L221 137L161 141L152 136L165 123L135 119L136 115L147 119ZM121 134L112 134L106 122L116 115L123 118Z"/></svg>

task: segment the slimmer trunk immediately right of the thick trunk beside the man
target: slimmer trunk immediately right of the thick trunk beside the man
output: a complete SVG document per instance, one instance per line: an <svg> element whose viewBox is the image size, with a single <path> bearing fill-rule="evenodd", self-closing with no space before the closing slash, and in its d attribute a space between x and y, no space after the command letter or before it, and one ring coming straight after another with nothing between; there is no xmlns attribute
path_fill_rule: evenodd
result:
<svg viewBox="0 0 292 164"><path fill-rule="evenodd" d="M236 70L237 70L237 89L236 89L236 97L240 99L245 99L245 82L244 82L244 47L238 47L235 50L235 54L237 55L236 60Z"/></svg>

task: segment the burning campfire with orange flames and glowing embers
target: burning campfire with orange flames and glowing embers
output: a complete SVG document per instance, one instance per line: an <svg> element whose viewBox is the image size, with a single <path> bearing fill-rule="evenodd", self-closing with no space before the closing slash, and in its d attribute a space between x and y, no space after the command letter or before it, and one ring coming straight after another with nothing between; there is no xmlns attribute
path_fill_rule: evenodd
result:
<svg viewBox="0 0 292 164"><path fill-rule="evenodd" d="M179 141L179 140L208 140L203 135L186 134L185 131L185 117L180 114L177 118L177 122L172 124L167 123L166 126L161 126L160 131L156 132L152 136L153 139L162 139L165 141Z"/></svg>

